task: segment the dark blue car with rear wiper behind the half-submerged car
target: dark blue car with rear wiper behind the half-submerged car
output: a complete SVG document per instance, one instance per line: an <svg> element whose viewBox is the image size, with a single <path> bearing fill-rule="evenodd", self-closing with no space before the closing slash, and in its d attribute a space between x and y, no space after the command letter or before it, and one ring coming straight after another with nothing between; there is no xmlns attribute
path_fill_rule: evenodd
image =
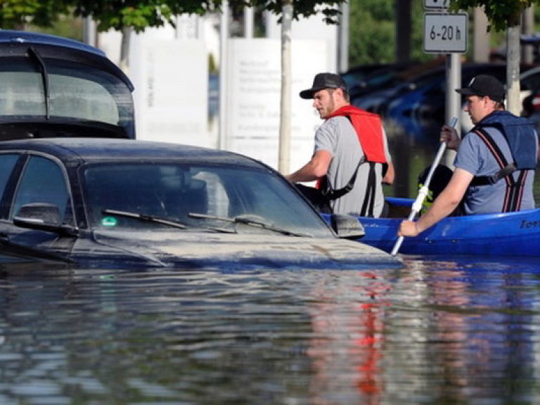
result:
<svg viewBox="0 0 540 405"><path fill-rule="evenodd" d="M135 138L133 85L103 51L0 30L0 140Z"/></svg>

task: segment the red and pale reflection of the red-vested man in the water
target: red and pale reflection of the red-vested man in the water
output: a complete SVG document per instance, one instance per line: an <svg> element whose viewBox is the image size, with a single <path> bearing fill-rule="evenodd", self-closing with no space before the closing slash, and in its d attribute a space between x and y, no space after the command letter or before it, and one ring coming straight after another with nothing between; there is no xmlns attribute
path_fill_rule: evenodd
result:
<svg viewBox="0 0 540 405"><path fill-rule="evenodd" d="M384 315L391 290L392 278L375 271L339 274L316 285L311 309L315 338L308 350L315 371L314 404L380 402Z"/></svg>

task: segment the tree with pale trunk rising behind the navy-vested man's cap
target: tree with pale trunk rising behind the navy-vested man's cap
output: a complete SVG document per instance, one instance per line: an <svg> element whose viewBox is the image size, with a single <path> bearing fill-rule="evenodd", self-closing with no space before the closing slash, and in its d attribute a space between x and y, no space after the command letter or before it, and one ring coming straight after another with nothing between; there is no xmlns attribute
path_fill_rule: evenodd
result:
<svg viewBox="0 0 540 405"><path fill-rule="evenodd" d="M537 1L537 0L536 0ZM506 84L508 110L519 115L520 103L520 20L533 0L450 0L450 10L482 7L489 21L488 30L506 30Z"/></svg>

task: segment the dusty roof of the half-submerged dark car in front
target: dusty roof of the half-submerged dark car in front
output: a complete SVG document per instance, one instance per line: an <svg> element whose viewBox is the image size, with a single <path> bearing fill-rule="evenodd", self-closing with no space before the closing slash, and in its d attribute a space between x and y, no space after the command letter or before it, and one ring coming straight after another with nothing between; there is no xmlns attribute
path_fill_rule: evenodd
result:
<svg viewBox="0 0 540 405"><path fill-rule="evenodd" d="M39 138L4 141L0 153L6 150L33 150L53 155L64 162L92 163L115 161L197 160L200 162L267 167L247 156L226 150L188 146L178 143L135 139Z"/></svg>

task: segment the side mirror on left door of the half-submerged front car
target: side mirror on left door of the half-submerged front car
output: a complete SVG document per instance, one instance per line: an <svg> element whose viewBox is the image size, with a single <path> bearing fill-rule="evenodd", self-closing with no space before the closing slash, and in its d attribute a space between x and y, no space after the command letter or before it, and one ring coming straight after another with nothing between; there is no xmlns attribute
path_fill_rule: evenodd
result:
<svg viewBox="0 0 540 405"><path fill-rule="evenodd" d="M20 207L18 214L13 217L13 224L21 228L60 233L66 236L77 235L77 229L61 223L58 206L49 203L23 205Z"/></svg>

